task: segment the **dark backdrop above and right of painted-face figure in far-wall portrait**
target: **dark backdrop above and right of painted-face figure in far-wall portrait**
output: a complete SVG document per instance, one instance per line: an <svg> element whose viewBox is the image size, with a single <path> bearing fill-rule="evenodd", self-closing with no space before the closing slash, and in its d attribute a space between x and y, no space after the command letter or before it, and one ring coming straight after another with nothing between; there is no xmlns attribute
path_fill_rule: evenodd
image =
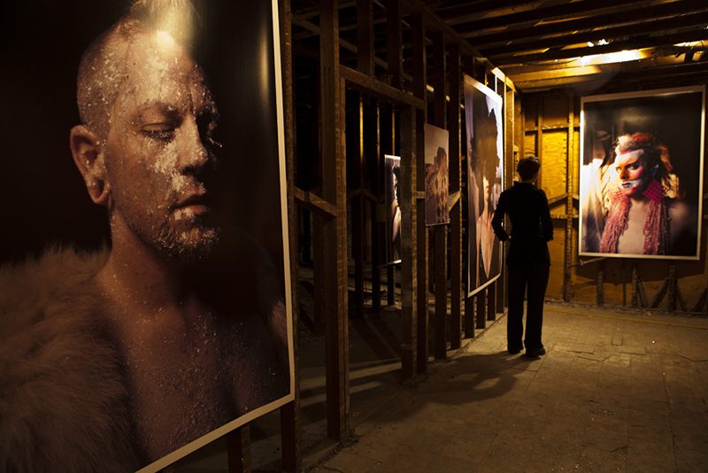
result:
<svg viewBox="0 0 708 473"><path fill-rule="evenodd" d="M686 200L697 204L702 108L701 92L586 102L584 143L586 148L592 143L593 128L611 133L613 140L635 131L653 133L669 150L673 171L686 191Z"/></svg>

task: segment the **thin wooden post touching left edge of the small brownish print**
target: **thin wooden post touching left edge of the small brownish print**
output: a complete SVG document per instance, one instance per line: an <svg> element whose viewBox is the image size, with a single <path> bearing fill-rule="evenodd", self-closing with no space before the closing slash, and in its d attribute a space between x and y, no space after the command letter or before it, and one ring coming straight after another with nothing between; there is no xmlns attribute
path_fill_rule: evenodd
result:
<svg viewBox="0 0 708 473"><path fill-rule="evenodd" d="M426 45L425 26L420 13L411 15L411 37L413 56L413 96L426 99ZM417 284L416 301L417 311L417 370L419 373L427 373L427 229L425 222L425 141L423 128L426 120L426 111L415 113L415 142L413 143L416 152L416 194L415 202L418 206L419 218L416 220L416 243L417 246ZM402 124L403 129L403 124ZM403 142L403 136L402 142ZM403 144L402 144L403 147ZM420 197L419 197L420 196Z"/></svg>

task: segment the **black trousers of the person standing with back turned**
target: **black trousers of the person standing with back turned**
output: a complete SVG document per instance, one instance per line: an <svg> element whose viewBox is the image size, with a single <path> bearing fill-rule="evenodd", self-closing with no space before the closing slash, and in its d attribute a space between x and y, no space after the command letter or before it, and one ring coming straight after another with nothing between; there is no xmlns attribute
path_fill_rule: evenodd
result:
<svg viewBox="0 0 708 473"><path fill-rule="evenodd" d="M507 266L509 285L509 314L506 319L506 340L510 352L519 352L543 347L543 301L548 286L550 266L545 262L518 263ZM527 293L526 338L524 333L524 292Z"/></svg>

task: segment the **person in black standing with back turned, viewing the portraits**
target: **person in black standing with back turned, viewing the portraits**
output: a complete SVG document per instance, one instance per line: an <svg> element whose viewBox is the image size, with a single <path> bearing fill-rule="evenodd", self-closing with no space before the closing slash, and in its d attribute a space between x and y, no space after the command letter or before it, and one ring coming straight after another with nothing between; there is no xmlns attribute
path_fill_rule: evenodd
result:
<svg viewBox="0 0 708 473"><path fill-rule="evenodd" d="M511 239L506 265L509 268L509 316L506 325L507 350L511 354L526 347L526 356L538 357L546 353L541 338L543 326L543 299L546 295L550 268L548 243L553 239L548 199L535 186L541 163L535 156L527 156L516 167L521 182L499 197L492 218L492 228L501 241ZM502 225L504 213L512 221L510 236ZM527 291L527 323L524 334L524 292Z"/></svg>

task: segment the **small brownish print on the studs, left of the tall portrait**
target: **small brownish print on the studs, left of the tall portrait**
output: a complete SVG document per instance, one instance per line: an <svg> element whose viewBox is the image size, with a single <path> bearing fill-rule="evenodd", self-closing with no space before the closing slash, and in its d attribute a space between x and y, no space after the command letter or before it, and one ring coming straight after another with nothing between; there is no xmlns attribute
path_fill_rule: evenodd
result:
<svg viewBox="0 0 708 473"><path fill-rule="evenodd" d="M448 130L426 123L426 225L450 223Z"/></svg>

